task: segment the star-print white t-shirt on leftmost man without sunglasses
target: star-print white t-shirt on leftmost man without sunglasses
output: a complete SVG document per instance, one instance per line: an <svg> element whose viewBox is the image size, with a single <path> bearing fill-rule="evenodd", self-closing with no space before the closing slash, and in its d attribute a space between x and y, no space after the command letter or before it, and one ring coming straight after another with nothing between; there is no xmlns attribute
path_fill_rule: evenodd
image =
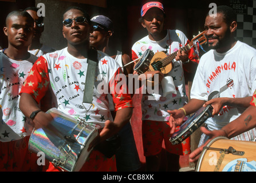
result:
<svg viewBox="0 0 256 183"><path fill-rule="evenodd" d="M26 61L15 61L0 52L0 60L0 141L8 142L31 134L29 119L19 109L19 91L37 57L30 54Z"/></svg>

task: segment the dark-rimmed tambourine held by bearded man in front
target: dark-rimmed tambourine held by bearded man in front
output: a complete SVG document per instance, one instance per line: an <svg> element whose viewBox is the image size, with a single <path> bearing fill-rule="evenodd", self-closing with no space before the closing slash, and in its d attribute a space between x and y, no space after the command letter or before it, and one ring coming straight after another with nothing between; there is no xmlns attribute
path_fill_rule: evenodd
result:
<svg viewBox="0 0 256 183"><path fill-rule="evenodd" d="M212 116L212 106L207 105L206 107L200 108L195 112L187 121L184 122L172 135L170 142L172 145L180 144L187 137L191 136L203 123Z"/></svg>

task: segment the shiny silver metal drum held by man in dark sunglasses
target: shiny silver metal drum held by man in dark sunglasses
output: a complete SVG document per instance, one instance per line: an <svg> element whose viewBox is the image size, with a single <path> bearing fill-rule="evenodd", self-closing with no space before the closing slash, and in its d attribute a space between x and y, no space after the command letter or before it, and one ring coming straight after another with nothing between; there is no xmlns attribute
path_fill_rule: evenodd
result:
<svg viewBox="0 0 256 183"><path fill-rule="evenodd" d="M97 136L98 130L56 108L46 113L51 114L54 121L47 128L33 130L29 139L29 150L45 153L47 160L69 172L79 171L90 154L87 149Z"/></svg>

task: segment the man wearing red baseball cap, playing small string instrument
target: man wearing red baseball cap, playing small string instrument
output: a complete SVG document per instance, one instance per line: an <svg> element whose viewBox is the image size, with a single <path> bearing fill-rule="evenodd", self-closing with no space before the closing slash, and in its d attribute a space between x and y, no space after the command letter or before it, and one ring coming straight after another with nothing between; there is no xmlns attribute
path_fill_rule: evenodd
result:
<svg viewBox="0 0 256 183"><path fill-rule="evenodd" d="M180 30L164 29L164 21L166 21L166 13L162 3L157 1L145 3L141 9L140 23L147 29L148 35L132 46L132 60L141 57L147 49L152 50L154 54L164 51L167 55L179 50L176 59L172 61L175 69L169 73L163 75L159 70L144 73L146 76L159 74L159 80L163 78L159 85L159 94L143 94L141 102L142 138L147 171L159 171L163 141L167 152L168 171L179 171L179 156L190 153L189 138L182 144L171 144L171 128L168 124L170 114L167 110L182 108L187 103L183 69L186 67L187 70L197 65L198 56L192 50L180 51L180 48L189 42L186 35ZM166 90L165 87L170 86L163 84L163 81L172 83L174 86L172 93L163 92Z"/></svg>

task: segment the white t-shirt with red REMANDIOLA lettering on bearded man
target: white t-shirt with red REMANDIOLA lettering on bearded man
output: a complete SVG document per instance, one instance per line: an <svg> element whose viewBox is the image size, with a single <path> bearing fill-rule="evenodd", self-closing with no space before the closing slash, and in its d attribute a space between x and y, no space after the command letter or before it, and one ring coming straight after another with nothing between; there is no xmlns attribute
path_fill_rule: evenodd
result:
<svg viewBox="0 0 256 183"><path fill-rule="evenodd" d="M191 98L207 101L211 92L233 79L234 85L220 93L220 97L241 98L253 96L256 89L256 50L238 41L226 53L210 50L200 59L191 88ZM210 130L218 130L235 120L245 109L224 106L220 113L208 118Z"/></svg>

